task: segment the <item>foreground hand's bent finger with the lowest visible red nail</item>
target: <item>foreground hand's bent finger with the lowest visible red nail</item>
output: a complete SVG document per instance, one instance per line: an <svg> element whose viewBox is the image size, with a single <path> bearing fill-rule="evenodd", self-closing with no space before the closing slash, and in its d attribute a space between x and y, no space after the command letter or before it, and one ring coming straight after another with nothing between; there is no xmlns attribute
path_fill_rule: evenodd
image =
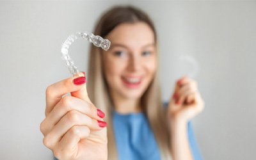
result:
<svg viewBox="0 0 256 160"><path fill-rule="evenodd" d="M49 148L54 147L61 137L74 125L86 125L91 131L99 131L102 127L106 127L106 122L92 119L79 111L69 111L45 136L45 145Z"/></svg>

